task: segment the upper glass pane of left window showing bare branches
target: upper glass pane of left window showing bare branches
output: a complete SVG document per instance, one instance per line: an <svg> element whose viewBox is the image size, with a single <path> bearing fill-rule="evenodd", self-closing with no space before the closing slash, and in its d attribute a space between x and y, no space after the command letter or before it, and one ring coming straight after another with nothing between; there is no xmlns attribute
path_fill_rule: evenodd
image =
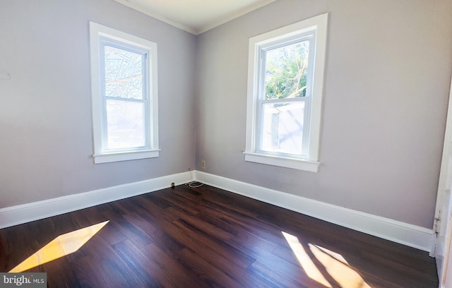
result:
<svg viewBox="0 0 452 288"><path fill-rule="evenodd" d="M143 55L105 46L105 95L143 99Z"/></svg>

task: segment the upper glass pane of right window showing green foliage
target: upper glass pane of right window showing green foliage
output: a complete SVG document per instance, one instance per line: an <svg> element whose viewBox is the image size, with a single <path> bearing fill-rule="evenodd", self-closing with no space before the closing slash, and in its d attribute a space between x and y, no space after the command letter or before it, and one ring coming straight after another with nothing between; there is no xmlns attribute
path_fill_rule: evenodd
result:
<svg viewBox="0 0 452 288"><path fill-rule="evenodd" d="M268 50L264 99L306 96L308 57L309 41Z"/></svg>

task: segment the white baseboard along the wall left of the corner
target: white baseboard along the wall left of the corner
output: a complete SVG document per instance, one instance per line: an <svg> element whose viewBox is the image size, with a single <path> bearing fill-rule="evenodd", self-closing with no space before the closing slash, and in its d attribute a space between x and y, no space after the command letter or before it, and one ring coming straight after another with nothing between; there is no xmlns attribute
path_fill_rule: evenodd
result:
<svg viewBox="0 0 452 288"><path fill-rule="evenodd" d="M172 182L176 185L184 184L192 179L193 176L190 172L183 172L85 193L1 208L0 229L168 188Z"/></svg>

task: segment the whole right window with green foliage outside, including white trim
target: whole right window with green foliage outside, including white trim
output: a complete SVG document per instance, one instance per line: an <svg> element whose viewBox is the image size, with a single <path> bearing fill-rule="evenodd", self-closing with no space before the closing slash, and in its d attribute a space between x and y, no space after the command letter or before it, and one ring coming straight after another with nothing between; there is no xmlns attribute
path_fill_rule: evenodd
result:
<svg viewBox="0 0 452 288"><path fill-rule="evenodd" d="M327 20L249 40L246 161L318 171Z"/></svg>

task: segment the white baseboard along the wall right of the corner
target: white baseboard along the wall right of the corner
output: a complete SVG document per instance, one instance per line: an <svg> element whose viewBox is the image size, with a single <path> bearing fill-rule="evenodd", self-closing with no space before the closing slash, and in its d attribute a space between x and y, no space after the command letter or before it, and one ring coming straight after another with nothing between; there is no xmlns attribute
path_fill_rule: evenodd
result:
<svg viewBox="0 0 452 288"><path fill-rule="evenodd" d="M323 203L289 193L247 184L205 172L195 172L196 181L261 200L343 227L432 253L432 229Z"/></svg>

